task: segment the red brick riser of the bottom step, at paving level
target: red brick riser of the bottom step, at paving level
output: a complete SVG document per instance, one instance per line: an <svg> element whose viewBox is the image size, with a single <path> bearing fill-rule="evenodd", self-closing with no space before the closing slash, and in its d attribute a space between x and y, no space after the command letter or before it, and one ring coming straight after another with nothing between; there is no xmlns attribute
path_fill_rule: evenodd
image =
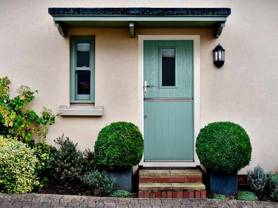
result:
<svg viewBox="0 0 278 208"><path fill-rule="evenodd" d="M138 198L206 198L206 191L139 191Z"/></svg>

